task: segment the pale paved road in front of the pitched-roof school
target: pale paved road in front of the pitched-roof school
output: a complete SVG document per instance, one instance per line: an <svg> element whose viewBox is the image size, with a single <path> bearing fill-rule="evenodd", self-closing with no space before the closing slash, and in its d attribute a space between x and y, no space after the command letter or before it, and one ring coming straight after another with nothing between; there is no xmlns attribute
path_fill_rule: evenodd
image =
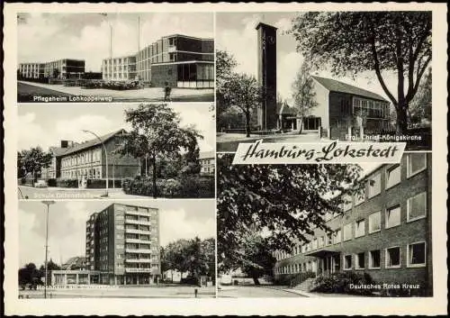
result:
<svg viewBox="0 0 450 318"><path fill-rule="evenodd" d="M19 199L99 199L103 197L104 189L76 189L76 188L58 188L47 187L37 188L32 186L19 186L17 195ZM121 188L110 188L108 192L109 199L148 199L144 195L127 195Z"/></svg>

